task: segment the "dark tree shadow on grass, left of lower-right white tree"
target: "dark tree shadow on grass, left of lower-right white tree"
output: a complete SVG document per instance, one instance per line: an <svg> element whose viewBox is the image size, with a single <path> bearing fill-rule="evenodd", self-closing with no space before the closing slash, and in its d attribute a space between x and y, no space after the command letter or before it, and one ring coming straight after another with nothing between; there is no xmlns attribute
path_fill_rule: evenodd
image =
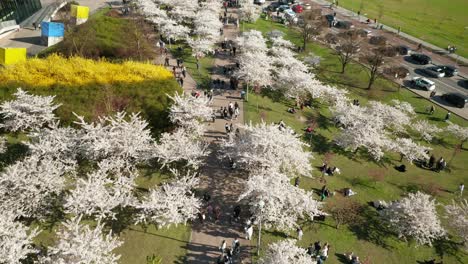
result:
<svg viewBox="0 0 468 264"><path fill-rule="evenodd" d="M385 249L392 249L387 239L393 236L393 231L385 225L376 210L365 207L361 213L362 221L352 224L349 229L358 239L366 240Z"/></svg>

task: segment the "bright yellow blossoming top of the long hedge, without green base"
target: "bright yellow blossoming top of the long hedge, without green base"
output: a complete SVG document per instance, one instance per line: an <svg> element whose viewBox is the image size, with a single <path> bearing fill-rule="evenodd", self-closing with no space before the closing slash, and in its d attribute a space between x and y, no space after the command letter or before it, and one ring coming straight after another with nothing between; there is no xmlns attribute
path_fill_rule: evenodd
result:
<svg viewBox="0 0 468 264"><path fill-rule="evenodd" d="M112 85L169 78L172 78L172 74L165 68L147 63L127 61L115 64L104 59L67 59L55 54L46 59L30 59L0 71L1 83L19 82L32 86L81 86L89 83Z"/></svg>

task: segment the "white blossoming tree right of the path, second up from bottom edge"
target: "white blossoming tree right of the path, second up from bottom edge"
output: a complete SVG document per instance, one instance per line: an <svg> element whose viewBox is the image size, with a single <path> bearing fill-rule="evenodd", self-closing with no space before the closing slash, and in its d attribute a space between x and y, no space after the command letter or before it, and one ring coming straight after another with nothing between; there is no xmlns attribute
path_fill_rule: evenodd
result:
<svg viewBox="0 0 468 264"><path fill-rule="evenodd" d="M290 230L297 227L299 219L324 214L312 194L291 185L286 175L266 170L249 177L239 200L249 201L251 212L265 226ZM264 202L263 208L257 206L260 201Z"/></svg>

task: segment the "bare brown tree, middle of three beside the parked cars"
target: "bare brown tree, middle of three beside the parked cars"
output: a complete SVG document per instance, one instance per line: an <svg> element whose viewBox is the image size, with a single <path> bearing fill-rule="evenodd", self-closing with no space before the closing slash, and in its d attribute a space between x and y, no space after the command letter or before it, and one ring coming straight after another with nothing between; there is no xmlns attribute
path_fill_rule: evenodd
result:
<svg viewBox="0 0 468 264"><path fill-rule="evenodd" d="M336 54L341 63L341 73L344 73L346 66L351 62L354 55L360 51L361 38L356 31L347 31L340 34L341 39L335 46Z"/></svg>

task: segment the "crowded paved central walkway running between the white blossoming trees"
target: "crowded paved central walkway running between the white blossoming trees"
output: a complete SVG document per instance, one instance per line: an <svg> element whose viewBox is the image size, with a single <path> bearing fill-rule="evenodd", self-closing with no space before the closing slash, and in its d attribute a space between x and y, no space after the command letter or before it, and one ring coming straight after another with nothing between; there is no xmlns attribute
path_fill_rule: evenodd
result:
<svg viewBox="0 0 468 264"><path fill-rule="evenodd" d="M234 9L228 10L228 15L232 14L236 17ZM233 40L239 34L239 29L233 25L224 26L224 35L228 40ZM234 64L232 56L226 53L220 53L216 56L214 62L214 70L212 79L224 80L229 83L229 76L223 74L223 66ZM233 263L250 263L251 262L251 246L248 240L245 240L243 222L232 222L231 215L234 207L238 204L237 197L242 191L243 182L247 180L247 175L241 175L239 171L232 170L226 159L220 158L219 142L226 137L224 125L226 123L234 125L234 130L239 124L244 123L243 118L243 102L240 99L239 91L215 91L212 107L218 110L220 107L225 107L229 102L237 102L240 107L241 115L237 120L225 120L217 118L216 121L209 125L206 131L206 140L211 142L211 150L213 151L208 157L205 166L201 168L201 184L200 188L203 192L208 192L211 195L209 204L214 207L221 208L221 217L219 221L214 221L207 213L207 219L204 223L196 221L193 223L191 241L188 245L187 263L217 263L216 261L221 256L219 247L223 240L226 240L227 247L230 248L232 241L239 238L241 244L240 256L233 258ZM242 216L247 214L247 208L242 208Z"/></svg>

